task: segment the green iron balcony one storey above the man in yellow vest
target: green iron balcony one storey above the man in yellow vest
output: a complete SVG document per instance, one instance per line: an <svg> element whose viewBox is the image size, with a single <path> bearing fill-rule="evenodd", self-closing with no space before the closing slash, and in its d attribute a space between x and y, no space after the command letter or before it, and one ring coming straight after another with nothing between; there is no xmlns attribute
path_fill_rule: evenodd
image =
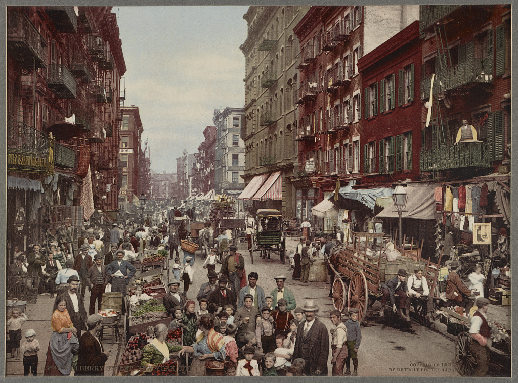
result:
<svg viewBox="0 0 518 383"><path fill-rule="evenodd" d="M446 91L467 91L493 83L493 57L468 60L439 71L435 75L433 94ZM430 97L431 77L421 80L421 99ZM453 92L455 93L455 92Z"/></svg>

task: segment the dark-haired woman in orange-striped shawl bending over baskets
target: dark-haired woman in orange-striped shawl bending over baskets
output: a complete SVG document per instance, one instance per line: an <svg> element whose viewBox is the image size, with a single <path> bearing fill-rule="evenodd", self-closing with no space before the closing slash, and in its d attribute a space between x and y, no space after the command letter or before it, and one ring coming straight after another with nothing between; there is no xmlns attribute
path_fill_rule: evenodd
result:
<svg viewBox="0 0 518 383"><path fill-rule="evenodd" d="M206 360L225 361L225 341L223 336L214 330L214 320L208 315L203 315L199 320L199 330L202 334L199 334L196 342L179 352L180 356L184 352L190 352L198 357L191 364L189 376L206 376Z"/></svg>

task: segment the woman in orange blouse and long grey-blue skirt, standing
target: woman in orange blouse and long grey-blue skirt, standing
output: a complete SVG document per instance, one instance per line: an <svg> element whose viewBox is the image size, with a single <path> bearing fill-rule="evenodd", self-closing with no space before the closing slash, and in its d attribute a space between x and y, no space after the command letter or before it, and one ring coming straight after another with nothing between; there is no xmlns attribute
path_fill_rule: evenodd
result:
<svg viewBox="0 0 518 383"><path fill-rule="evenodd" d="M54 303L50 327L53 332L47 350L44 376L69 376L72 357L78 354L79 340L64 297L58 298Z"/></svg>

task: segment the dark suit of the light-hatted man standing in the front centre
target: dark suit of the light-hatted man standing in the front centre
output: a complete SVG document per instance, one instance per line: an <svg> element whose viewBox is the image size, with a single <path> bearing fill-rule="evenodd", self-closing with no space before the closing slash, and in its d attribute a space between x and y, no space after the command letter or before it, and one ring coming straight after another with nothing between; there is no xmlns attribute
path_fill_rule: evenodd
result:
<svg viewBox="0 0 518 383"><path fill-rule="evenodd" d="M327 359L329 359L329 334L324 323L315 318L311 329L304 336L306 321L298 326L293 360L302 358L306 361L306 375L316 376L315 370L327 376Z"/></svg>

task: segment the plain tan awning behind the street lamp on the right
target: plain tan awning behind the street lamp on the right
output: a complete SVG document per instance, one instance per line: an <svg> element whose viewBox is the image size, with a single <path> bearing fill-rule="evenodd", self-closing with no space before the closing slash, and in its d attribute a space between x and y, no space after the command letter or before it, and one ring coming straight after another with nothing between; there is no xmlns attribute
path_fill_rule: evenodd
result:
<svg viewBox="0 0 518 383"><path fill-rule="evenodd" d="M407 205L401 218L414 219L436 219L435 185L408 185L406 191L408 193ZM391 202L385 209L376 215L380 218L398 218L394 203Z"/></svg>

